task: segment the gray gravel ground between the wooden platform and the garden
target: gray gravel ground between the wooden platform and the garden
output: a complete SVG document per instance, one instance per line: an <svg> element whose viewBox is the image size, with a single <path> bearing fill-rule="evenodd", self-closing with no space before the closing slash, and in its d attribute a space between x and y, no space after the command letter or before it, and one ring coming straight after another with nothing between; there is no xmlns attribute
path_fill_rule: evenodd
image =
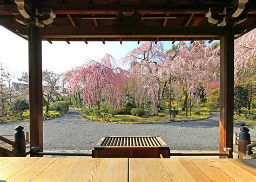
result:
<svg viewBox="0 0 256 182"><path fill-rule="evenodd" d="M29 122L0 124L0 135L14 134L14 128L23 125L29 131ZM252 136L256 129L250 128ZM239 127L235 126L238 132ZM171 150L218 150L219 114L201 121L158 124L100 123L80 118L79 111L54 120L44 121L44 148L46 150L91 150L99 139L111 135L157 135Z"/></svg>

